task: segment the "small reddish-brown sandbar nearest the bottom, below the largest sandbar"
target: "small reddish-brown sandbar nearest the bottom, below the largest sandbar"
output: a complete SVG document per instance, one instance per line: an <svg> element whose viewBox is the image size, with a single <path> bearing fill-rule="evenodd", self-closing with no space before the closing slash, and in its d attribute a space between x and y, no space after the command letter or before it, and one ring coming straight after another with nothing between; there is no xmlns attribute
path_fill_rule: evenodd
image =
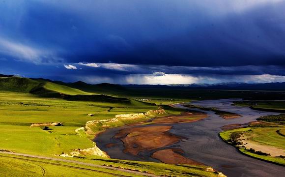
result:
<svg viewBox="0 0 285 177"><path fill-rule="evenodd" d="M183 153L183 151L181 149L163 149L154 152L151 157L167 164L204 165L200 162L186 158L179 153Z"/></svg>

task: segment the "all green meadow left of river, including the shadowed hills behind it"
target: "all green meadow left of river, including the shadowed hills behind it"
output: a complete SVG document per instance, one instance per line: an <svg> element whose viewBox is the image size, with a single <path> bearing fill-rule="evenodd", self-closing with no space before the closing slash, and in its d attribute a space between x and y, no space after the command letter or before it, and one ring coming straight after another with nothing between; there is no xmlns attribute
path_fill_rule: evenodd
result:
<svg viewBox="0 0 285 177"><path fill-rule="evenodd" d="M112 97L101 95L106 85L91 92L71 88L49 81L27 78L0 78L0 149L17 153L41 155L82 161L97 165L113 165L155 175L215 177L206 167L168 165L154 162L116 160L95 155L81 155L81 158L57 157L55 154L69 153L74 149L92 148L93 136L75 130L84 127L89 120L111 119L118 114L145 113L162 106L167 114L180 114L174 109L157 102L142 102L129 95ZM111 90L111 91L110 91ZM120 91L120 89L118 89ZM168 104L176 103L177 100ZM181 100L178 100L181 101ZM161 102L161 100L159 101ZM164 102L166 103L166 102ZM92 116L88 116L92 114ZM112 127L141 121L142 119L118 121ZM61 122L62 126L30 127L32 123ZM94 133L104 130L94 129ZM83 159L82 159L83 158ZM55 162L36 158L0 153L0 171L4 176L136 176L108 169L98 169L65 162ZM127 174L127 175L126 175Z"/></svg>

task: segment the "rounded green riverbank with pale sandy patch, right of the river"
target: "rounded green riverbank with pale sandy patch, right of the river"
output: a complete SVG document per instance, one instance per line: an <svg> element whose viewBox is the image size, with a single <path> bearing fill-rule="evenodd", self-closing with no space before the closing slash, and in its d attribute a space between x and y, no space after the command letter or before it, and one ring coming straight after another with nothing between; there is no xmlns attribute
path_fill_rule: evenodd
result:
<svg viewBox="0 0 285 177"><path fill-rule="evenodd" d="M230 127L230 126L228 126ZM219 133L221 139L250 157L285 166L285 126L255 121Z"/></svg>

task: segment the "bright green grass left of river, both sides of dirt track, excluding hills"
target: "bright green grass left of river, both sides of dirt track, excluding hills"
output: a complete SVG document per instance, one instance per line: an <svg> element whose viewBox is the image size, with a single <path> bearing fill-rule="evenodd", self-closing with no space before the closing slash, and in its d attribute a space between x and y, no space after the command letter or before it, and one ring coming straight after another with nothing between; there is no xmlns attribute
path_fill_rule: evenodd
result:
<svg viewBox="0 0 285 177"><path fill-rule="evenodd" d="M113 109L110 110L110 107ZM53 154L68 153L76 148L93 147L92 141L88 139L92 137L83 136L84 134L82 133L76 134L74 131L78 127L85 126L88 120L109 119L114 118L117 114L145 113L156 109L158 109L156 105L145 104L135 100L131 100L131 104L124 105L119 103L45 99L28 93L0 92L0 148L19 153L55 157ZM181 110L176 110L169 106L164 106L164 109L168 113L180 114L181 112ZM90 113L95 115L88 117L87 114ZM50 126L52 128L50 133L42 130L40 127L29 127L31 123L36 122L63 122L63 126ZM121 123L130 122L126 120ZM118 125L120 124L114 124L114 126ZM123 161L94 155L84 157L86 159L68 159L99 165L112 164L142 171L146 170L157 175L168 174L179 177L217 176L215 173L204 171L204 167L182 167L163 163ZM42 173L39 166L47 170L48 173L45 176L72 175L81 177L92 175L100 177L100 174L89 172L88 170L0 157L0 172L5 174L5 176L39 176ZM106 174L103 174L103 176L105 177Z"/></svg>

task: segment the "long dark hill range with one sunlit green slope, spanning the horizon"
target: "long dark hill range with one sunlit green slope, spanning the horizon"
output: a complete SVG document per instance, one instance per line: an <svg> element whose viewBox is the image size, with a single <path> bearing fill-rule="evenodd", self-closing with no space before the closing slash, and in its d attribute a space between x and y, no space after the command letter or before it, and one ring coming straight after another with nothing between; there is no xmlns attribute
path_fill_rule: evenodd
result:
<svg viewBox="0 0 285 177"><path fill-rule="evenodd" d="M285 83L245 84L222 83L214 85L114 85L87 84L81 81L64 83L48 79L28 79L21 77L0 77L0 90L32 93L41 97L77 100L99 98L75 95L109 95L137 99L285 99ZM102 98L103 99L103 98ZM104 98L105 99L105 98ZM106 98L107 100L111 100ZM118 100L117 100L118 101Z"/></svg>

